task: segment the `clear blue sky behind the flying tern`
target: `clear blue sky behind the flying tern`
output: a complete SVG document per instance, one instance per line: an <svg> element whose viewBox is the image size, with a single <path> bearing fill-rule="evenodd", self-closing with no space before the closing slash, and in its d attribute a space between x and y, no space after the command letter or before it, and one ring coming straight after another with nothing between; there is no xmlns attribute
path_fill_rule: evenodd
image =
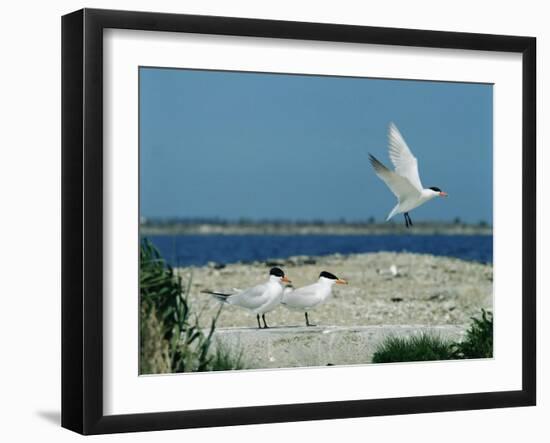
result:
<svg viewBox="0 0 550 443"><path fill-rule="evenodd" d="M491 85L140 69L144 217L383 220L393 121L449 193L412 219L492 223Z"/></svg>

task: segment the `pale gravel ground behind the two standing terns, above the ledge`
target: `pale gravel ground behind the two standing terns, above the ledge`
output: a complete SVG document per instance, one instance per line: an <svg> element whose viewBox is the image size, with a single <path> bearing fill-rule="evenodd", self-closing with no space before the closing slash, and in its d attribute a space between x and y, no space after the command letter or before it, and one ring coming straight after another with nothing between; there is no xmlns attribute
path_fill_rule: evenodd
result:
<svg viewBox="0 0 550 443"><path fill-rule="evenodd" d="M202 310L201 322L206 326L219 303L202 290L255 285L267 279L273 265L282 267L296 287L315 282L323 270L348 280L347 286L335 285L332 298L310 312L310 320L324 326L463 325L481 308L493 306L492 265L423 254L291 257L179 268L177 272L184 281L191 279L189 299L195 310ZM304 324L303 313L282 305L266 314L266 319L270 326ZM256 318L244 309L225 305L217 325L256 327Z"/></svg>

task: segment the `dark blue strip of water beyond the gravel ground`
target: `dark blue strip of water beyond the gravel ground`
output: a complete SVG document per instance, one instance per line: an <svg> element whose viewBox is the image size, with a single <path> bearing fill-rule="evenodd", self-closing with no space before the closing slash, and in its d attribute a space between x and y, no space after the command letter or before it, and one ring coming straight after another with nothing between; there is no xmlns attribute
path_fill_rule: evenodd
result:
<svg viewBox="0 0 550 443"><path fill-rule="evenodd" d="M153 235L172 266L284 259L296 255L414 252L492 263L492 235Z"/></svg>

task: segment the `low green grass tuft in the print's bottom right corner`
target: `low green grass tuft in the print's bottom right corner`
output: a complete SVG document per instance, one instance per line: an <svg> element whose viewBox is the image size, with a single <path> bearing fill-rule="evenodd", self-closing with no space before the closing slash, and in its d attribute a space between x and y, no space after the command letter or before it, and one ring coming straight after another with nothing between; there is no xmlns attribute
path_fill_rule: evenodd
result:
<svg viewBox="0 0 550 443"><path fill-rule="evenodd" d="M373 363L436 361L493 356L493 315L482 309L472 317L464 340L454 342L422 333L411 337L388 337L376 349Z"/></svg>

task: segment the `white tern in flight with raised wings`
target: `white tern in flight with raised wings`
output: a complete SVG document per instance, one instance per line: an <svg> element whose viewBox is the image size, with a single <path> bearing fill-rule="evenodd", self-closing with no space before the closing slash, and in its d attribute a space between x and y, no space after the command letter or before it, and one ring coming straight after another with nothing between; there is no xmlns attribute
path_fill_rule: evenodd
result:
<svg viewBox="0 0 550 443"><path fill-rule="evenodd" d="M409 211L434 197L447 197L447 193L435 186L424 189L418 175L418 161L393 123L390 123L388 139L388 151L395 171L388 169L372 154L369 154L369 160L376 175L397 197L397 205L388 214L386 221L395 214L403 213L405 226L408 228L413 225Z"/></svg>

